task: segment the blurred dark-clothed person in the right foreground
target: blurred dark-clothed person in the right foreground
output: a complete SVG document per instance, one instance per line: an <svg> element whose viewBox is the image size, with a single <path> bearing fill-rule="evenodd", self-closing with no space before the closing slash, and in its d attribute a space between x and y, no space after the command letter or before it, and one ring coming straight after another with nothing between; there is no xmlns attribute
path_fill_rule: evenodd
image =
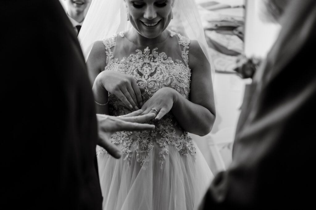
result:
<svg viewBox="0 0 316 210"><path fill-rule="evenodd" d="M266 3L282 30L246 87L232 164L215 177L200 209L314 205L316 2Z"/></svg>

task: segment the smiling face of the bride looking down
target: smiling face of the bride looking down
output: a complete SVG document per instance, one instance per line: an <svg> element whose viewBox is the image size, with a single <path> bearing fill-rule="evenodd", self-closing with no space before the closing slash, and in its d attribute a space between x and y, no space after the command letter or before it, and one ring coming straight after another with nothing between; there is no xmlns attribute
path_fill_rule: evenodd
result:
<svg viewBox="0 0 316 210"><path fill-rule="evenodd" d="M125 2L132 26L143 37L158 37L170 23L172 0L125 0Z"/></svg>

